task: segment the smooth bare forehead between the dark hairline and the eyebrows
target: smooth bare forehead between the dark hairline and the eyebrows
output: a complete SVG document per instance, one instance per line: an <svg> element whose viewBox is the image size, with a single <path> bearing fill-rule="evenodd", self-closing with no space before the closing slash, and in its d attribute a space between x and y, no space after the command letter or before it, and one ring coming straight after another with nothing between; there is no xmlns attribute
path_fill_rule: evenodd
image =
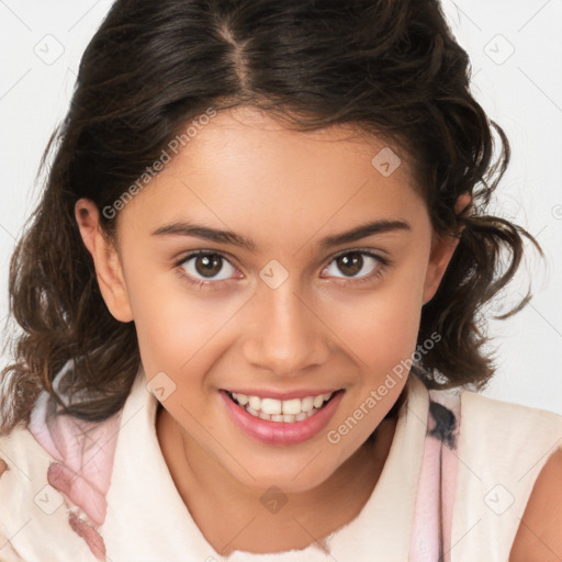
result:
<svg viewBox="0 0 562 562"><path fill-rule="evenodd" d="M326 234L375 218L412 222L423 201L404 156L351 125L292 131L237 106L200 125L122 214L150 231L196 217L263 234L299 225L302 236L328 223Z"/></svg>

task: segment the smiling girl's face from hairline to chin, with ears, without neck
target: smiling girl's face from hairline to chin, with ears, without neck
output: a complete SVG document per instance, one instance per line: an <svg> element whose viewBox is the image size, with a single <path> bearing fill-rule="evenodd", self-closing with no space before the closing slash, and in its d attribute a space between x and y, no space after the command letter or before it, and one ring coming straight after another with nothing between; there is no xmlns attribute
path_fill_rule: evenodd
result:
<svg viewBox="0 0 562 562"><path fill-rule="evenodd" d="M393 385L389 373L415 351L454 244L432 234L405 161L390 176L372 164L384 147L238 106L124 206L115 252L87 236L95 206L77 204L93 217L81 229L105 302L135 322L147 379L194 462L250 487L310 490L398 397L407 372Z"/></svg>

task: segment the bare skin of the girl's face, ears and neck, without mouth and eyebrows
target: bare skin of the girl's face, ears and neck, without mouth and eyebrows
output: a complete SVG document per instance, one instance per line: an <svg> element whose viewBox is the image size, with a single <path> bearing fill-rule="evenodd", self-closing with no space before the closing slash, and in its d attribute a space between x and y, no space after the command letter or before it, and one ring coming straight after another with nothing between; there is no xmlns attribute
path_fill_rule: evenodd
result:
<svg viewBox="0 0 562 562"><path fill-rule="evenodd" d="M176 384L161 401L158 440L178 492L221 554L304 548L358 515L394 436L395 423L381 420L406 376L338 443L326 435L415 351L422 306L458 241L435 235L405 159L384 177L371 159L385 144L351 133L341 125L291 132L238 106L212 119L126 204L115 245L99 227L97 206L76 204L108 308L135 322L147 380L165 372ZM469 203L463 195L458 207ZM409 229L318 246L379 218L405 221ZM151 235L179 220L234 231L259 250ZM363 255L358 273L338 267L336 256L359 248L390 263ZM176 263L199 249L225 261L198 288L181 274L205 281L196 259ZM276 289L259 277L270 260L289 273ZM235 386L345 393L319 435L265 445L225 412L218 390ZM378 426L374 445L363 445ZM260 502L272 485L288 499L276 514Z"/></svg>

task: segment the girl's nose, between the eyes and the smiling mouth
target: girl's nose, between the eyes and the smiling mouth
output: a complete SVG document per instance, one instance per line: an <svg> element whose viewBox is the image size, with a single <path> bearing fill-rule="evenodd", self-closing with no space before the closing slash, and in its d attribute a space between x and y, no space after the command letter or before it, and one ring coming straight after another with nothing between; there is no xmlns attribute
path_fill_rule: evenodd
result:
<svg viewBox="0 0 562 562"><path fill-rule="evenodd" d="M302 375L326 362L329 329L291 277L281 286L262 284L246 311L244 353L248 363L279 376Z"/></svg>

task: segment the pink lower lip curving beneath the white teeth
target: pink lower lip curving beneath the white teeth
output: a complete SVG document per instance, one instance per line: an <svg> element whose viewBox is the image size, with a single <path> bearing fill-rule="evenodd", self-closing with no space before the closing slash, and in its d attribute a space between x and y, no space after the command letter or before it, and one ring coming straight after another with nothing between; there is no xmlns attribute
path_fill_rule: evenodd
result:
<svg viewBox="0 0 562 562"><path fill-rule="evenodd" d="M267 445L295 445L312 439L326 427L344 396L344 392L339 391L314 416L291 424L254 417L241 406L235 404L225 391L220 391L218 394L236 426L254 439Z"/></svg>

